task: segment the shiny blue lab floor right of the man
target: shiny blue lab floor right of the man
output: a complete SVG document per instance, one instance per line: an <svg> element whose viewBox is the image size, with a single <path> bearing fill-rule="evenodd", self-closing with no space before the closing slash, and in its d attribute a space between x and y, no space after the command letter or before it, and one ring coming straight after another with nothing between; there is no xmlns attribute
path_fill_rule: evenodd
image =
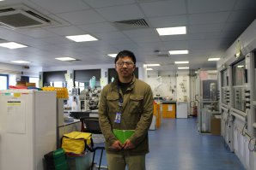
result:
<svg viewBox="0 0 256 170"><path fill-rule="evenodd" d="M149 131L149 150L147 170L245 169L221 136L198 133L197 118L163 119L159 129ZM107 165L105 154L102 165Z"/></svg>

